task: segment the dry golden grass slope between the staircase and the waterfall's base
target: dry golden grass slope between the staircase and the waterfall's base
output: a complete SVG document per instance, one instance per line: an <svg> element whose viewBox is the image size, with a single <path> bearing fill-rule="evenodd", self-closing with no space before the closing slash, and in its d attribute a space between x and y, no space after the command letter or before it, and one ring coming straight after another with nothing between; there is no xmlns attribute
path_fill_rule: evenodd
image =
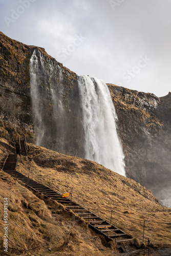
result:
<svg viewBox="0 0 171 256"><path fill-rule="evenodd" d="M171 210L164 208L151 191L134 180L125 178L102 165L81 158L70 157L30 144L31 158L20 160L18 170L34 174L34 179L60 193L73 188L73 200L90 208L97 215L110 220L114 211L115 223L126 232L142 239L143 220L145 238L158 246L170 246Z"/></svg>

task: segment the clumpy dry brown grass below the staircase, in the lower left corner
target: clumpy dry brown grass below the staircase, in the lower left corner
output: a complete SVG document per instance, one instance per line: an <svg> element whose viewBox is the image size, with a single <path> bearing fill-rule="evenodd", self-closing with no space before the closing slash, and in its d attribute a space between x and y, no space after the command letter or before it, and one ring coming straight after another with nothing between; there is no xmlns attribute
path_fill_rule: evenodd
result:
<svg viewBox="0 0 171 256"><path fill-rule="evenodd" d="M0 187L1 212L5 197L9 203L9 253L4 254L1 248L1 255L112 255L87 223L82 223L73 212L50 200L45 203L2 171ZM52 215L52 209L56 216ZM1 221L1 247L3 224Z"/></svg>

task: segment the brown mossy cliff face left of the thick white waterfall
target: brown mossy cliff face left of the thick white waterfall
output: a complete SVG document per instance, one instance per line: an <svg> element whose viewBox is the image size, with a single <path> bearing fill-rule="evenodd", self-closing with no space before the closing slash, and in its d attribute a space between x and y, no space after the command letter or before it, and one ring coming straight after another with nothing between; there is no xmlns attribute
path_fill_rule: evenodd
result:
<svg viewBox="0 0 171 256"><path fill-rule="evenodd" d="M34 102L31 99L30 59L34 51L37 54L38 74L33 75L39 77L37 86L39 94L41 93L41 96L38 95L40 96L39 105L41 105L38 120L35 120ZM60 81L57 78L57 72L54 77L50 77L52 67L60 69ZM53 150L58 149L60 152L62 140L65 139L67 143L62 153L78 155L79 152L82 156L81 120L77 107L79 94L77 75L74 72L63 67L61 63L48 55L45 49L24 45L0 32L0 74L1 137L16 140L20 134L26 135L29 142L35 142L36 135L41 133L44 134L42 146ZM53 88L50 84L53 84ZM60 123L57 123L56 118L61 110L56 109L56 112L53 112L54 102L51 91L58 95L58 100L61 100L65 107L65 114ZM34 94L35 91L33 91ZM41 122L44 126L42 129ZM56 134L55 138L54 134ZM58 148L56 148L56 143L59 145Z"/></svg>

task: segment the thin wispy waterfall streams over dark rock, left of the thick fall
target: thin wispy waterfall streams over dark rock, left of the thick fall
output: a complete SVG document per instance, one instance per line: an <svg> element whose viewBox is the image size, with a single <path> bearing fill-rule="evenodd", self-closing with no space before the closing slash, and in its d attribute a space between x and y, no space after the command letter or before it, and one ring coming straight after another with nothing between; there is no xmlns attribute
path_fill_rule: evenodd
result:
<svg viewBox="0 0 171 256"><path fill-rule="evenodd" d="M49 143L51 148L59 150L64 147L62 143L65 122L62 72L56 62L53 63L52 59L46 60L37 49L30 59L30 84L36 145L47 146ZM59 136L60 141L57 142Z"/></svg>

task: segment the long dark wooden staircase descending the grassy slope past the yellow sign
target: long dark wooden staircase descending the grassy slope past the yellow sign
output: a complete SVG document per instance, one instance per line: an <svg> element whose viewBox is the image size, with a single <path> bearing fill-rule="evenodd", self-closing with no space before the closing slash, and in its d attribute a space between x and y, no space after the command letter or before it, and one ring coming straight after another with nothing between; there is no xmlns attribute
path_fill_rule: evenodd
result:
<svg viewBox="0 0 171 256"><path fill-rule="evenodd" d="M102 219L97 216L93 212L89 211L89 209L84 208L83 206L71 201L68 198L62 198L62 195L52 190L51 188L42 185L23 174L17 172L15 170L17 164L17 155L9 155L3 170L10 174L12 177L17 178L18 180L24 182L29 189L34 190L35 192L39 192L43 194L45 197L56 200L58 203L62 204L66 207L67 210L72 210L76 215L83 218L86 222L89 223L89 227L94 231L101 234L105 237L106 241L114 241L116 243L121 242L129 242L132 241L133 238L122 231L120 228L112 225L108 221ZM15 163L15 164L14 164Z"/></svg>

